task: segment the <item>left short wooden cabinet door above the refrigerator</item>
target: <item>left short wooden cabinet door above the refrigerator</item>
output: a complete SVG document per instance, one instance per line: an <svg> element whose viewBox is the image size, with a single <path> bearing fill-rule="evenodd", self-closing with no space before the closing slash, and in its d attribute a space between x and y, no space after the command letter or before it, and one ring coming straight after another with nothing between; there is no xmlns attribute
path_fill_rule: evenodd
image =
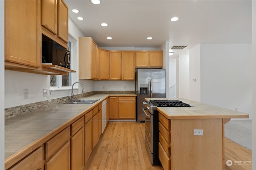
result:
<svg viewBox="0 0 256 170"><path fill-rule="evenodd" d="M136 67L148 67L149 51L136 51L135 60Z"/></svg>

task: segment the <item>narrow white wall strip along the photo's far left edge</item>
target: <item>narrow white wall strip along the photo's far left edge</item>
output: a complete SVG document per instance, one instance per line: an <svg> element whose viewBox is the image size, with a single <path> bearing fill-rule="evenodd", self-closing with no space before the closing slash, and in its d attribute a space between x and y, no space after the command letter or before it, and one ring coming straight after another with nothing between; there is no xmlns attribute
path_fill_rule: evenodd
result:
<svg viewBox="0 0 256 170"><path fill-rule="evenodd" d="M0 169L4 169L4 1L0 0Z"/></svg>

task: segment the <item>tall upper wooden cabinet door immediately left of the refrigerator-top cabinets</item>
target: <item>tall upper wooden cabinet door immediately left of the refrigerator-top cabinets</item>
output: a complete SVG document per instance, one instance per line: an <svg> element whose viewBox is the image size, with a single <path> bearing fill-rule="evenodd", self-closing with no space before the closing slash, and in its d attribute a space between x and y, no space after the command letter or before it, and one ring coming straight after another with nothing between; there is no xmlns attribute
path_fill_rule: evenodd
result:
<svg viewBox="0 0 256 170"><path fill-rule="evenodd" d="M135 80L134 51L122 51L122 80Z"/></svg>

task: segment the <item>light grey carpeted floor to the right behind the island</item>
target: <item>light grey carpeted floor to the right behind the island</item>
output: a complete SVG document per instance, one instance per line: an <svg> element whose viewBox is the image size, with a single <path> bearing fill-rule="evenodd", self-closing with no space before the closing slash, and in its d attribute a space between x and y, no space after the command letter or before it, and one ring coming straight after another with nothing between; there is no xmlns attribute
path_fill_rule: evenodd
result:
<svg viewBox="0 0 256 170"><path fill-rule="evenodd" d="M252 120L231 119L225 124L225 137L252 150Z"/></svg>

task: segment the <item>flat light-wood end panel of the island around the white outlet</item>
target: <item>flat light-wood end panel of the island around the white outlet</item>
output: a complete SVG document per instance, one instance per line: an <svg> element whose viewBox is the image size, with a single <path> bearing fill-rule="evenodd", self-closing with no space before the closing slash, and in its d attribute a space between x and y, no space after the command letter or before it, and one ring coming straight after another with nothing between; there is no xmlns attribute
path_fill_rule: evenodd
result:
<svg viewBox="0 0 256 170"><path fill-rule="evenodd" d="M222 119L171 119L173 170L221 170L222 123ZM203 129L203 136L194 136L193 129Z"/></svg>

